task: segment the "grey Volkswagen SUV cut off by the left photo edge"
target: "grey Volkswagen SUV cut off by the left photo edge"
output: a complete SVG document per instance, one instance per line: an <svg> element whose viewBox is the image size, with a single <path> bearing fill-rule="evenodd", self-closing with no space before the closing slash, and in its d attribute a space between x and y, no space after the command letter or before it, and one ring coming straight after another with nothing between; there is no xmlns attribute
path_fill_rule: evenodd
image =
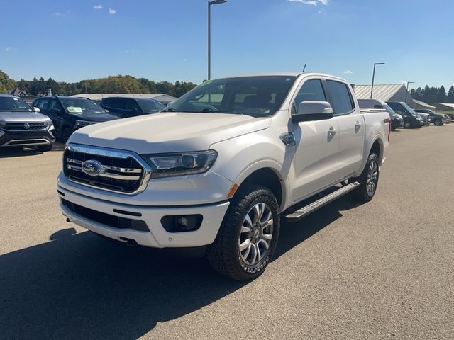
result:
<svg viewBox="0 0 454 340"><path fill-rule="evenodd" d="M0 94L0 147L52 149L55 136L52 120L33 111L22 98Z"/></svg>

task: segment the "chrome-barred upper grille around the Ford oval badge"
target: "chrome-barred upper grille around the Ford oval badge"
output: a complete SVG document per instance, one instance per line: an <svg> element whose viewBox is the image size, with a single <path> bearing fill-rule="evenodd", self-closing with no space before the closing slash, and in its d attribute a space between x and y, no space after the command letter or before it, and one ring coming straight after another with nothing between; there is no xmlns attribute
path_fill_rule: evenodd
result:
<svg viewBox="0 0 454 340"><path fill-rule="evenodd" d="M97 161L102 165L99 175L92 176L82 170L84 162L89 160ZM120 193L138 191L145 174L143 166L133 157L85 153L71 147L65 150L63 172L72 181Z"/></svg>

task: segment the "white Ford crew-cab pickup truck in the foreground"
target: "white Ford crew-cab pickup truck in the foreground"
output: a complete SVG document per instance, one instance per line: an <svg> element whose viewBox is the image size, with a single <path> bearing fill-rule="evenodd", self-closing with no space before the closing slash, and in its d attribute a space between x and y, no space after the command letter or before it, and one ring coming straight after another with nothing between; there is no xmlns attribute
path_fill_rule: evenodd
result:
<svg viewBox="0 0 454 340"><path fill-rule="evenodd" d="M128 244L206 246L217 271L248 280L270 263L282 218L349 191L371 200L388 140L389 114L360 111L338 77L205 81L161 113L74 132L60 208L68 222Z"/></svg>

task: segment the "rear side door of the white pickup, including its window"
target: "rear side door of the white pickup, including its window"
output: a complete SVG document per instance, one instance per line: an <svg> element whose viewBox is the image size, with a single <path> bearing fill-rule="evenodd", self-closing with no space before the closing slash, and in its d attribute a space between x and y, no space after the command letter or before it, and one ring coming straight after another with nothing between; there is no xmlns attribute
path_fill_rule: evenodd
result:
<svg viewBox="0 0 454 340"><path fill-rule="evenodd" d="M326 87L339 126L339 174L344 179L355 174L362 163L364 119L347 83L326 79Z"/></svg>

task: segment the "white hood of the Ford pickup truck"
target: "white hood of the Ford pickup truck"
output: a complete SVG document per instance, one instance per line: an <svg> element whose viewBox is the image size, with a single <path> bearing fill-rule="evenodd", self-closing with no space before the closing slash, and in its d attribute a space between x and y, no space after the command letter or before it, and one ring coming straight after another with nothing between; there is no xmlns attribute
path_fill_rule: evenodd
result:
<svg viewBox="0 0 454 340"><path fill-rule="evenodd" d="M264 130L270 122L229 113L154 113L87 126L68 142L138 154L202 151L221 140Z"/></svg>

